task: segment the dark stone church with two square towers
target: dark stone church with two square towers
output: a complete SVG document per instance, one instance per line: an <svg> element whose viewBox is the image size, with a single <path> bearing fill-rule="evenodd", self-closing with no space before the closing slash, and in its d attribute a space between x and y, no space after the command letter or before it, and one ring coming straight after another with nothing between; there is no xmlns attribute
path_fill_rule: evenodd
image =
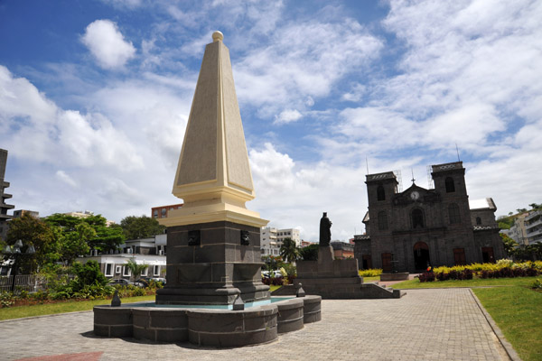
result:
<svg viewBox="0 0 542 361"><path fill-rule="evenodd" d="M504 258L493 199L469 201L463 162L431 167L434 189L398 190L393 171L368 174L365 234L354 236L360 269L416 273L429 265Z"/></svg>

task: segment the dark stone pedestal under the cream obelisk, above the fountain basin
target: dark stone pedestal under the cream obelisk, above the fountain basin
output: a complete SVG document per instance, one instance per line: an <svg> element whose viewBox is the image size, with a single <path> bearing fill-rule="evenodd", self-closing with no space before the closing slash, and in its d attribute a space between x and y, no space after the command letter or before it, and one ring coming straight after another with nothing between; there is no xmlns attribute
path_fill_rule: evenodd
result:
<svg viewBox="0 0 542 361"><path fill-rule="evenodd" d="M167 284L156 292L157 304L232 304L238 293L244 302L269 298L269 286L261 282L259 228L223 221L167 232Z"/></svg>

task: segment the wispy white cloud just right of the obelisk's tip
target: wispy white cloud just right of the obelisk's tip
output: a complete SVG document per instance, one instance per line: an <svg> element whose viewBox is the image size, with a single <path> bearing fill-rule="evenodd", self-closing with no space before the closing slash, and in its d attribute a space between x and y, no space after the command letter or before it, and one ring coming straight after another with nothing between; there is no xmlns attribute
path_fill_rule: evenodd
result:
<svg viewBox="0 0 542 361"><path fill-rule="evenodd" d="M307 99L329 96L337 81L366 67L383 48L351 19L287 23L269 41L233 65L240 102L257 106L260 116L285 107L303 110Z"/></svg>

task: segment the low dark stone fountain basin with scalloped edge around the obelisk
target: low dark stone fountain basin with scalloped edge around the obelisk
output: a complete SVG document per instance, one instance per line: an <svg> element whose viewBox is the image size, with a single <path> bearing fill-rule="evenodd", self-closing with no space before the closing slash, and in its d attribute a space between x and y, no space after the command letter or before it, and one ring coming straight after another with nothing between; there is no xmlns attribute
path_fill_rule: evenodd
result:
<svg viewBox="0 0 542 361"><path fill-rule="evenodd" d="M242 347L276 340L321 319L320 296L274 297L246 304L245 310L219 305L126 303L94 307L94 333L107 338L191 342L207 347ZM251 306L251 307L247 307Z"/></svg>

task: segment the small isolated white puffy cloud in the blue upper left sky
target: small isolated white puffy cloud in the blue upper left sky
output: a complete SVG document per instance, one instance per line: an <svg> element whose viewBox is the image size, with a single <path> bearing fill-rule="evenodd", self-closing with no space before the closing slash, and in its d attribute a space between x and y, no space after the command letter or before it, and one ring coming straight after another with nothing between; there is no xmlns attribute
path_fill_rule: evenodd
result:
<svg viewBox="0 0 542 361"><path fill-rule="evenodd" d="M104 69L121 68L135 56L132 42L126 42L117 23L110 20L89 23L81 41Z"/></svg>

